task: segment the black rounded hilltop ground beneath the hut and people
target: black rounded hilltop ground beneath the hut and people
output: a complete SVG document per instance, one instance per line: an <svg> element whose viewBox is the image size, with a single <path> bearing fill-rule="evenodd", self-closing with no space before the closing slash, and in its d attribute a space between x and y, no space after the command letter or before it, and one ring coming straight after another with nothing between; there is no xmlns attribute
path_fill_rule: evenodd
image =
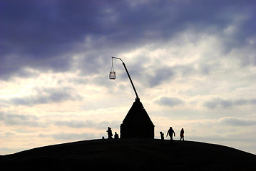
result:
<svg viewBox="0 0 256 171"><path fill-rule="evenodd" d="M256 170L256 155L203 142L84 140L0 156L2 170Z"/></svg>

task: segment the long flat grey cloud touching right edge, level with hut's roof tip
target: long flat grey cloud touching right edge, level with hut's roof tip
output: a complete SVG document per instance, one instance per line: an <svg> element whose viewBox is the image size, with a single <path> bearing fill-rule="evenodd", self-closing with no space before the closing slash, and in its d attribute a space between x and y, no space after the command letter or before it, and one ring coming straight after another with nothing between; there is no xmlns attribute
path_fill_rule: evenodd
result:
<svg viewBox="0 0 256 171"><path fill-rule="evenodd" d="M209 109L215 108L232 108L233 106L239 105L255 105L256 99L239 99L239 100L225 100L224 98L213 98L211 100L206 101L203 105Z"/></svg>

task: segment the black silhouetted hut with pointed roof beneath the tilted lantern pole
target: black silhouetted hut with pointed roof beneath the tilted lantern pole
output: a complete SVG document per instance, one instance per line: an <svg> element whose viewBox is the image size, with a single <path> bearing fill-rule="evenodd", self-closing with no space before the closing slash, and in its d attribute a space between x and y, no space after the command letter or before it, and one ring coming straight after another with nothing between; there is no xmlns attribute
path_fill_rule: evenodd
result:
<svg viewBox="0 0 256 171"><path fill-rule="evenodd" d="M120 126L121 138L154 138L155 125L150 120L139 98L135 99Z"/></svg>

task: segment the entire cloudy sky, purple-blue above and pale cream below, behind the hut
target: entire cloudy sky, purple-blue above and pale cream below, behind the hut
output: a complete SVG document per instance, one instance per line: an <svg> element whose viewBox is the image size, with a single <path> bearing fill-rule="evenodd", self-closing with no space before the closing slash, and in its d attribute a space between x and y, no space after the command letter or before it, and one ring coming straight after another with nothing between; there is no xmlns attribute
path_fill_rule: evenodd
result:
<svg viewBox="0 0 256 171"><path fill-rule="evenodd" d="M255 1L1 1L0 155L107 136L135 100L160 131L256 154ZM176 137L175 139L178 139Z"/></svg>

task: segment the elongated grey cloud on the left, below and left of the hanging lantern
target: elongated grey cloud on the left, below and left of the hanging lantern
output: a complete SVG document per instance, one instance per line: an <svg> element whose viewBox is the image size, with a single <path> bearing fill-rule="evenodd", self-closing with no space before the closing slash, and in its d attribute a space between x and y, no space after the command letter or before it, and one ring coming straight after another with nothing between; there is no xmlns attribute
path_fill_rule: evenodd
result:
<svg viewBox="0 0 256 171"><path fill-rule="evenodd" d="M12 98L14 105L39 105L46 103L61 103L66 100L81 100L81 96L73 94L72 88L44 88L36 90L37 95L29 95L22 98Z"/></svg>

